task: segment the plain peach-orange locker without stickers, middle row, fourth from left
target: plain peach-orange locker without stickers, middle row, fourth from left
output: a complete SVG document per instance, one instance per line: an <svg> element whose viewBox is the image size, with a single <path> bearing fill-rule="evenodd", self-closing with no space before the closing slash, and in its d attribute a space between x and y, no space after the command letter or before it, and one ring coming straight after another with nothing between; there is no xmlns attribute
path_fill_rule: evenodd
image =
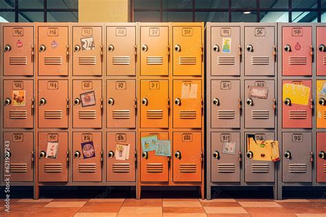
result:
<svg viewBox="0 0 326 217"><path fill-rule="evenodd" d="M135 128L135 80L107 80L107 128Z"/></svg>

